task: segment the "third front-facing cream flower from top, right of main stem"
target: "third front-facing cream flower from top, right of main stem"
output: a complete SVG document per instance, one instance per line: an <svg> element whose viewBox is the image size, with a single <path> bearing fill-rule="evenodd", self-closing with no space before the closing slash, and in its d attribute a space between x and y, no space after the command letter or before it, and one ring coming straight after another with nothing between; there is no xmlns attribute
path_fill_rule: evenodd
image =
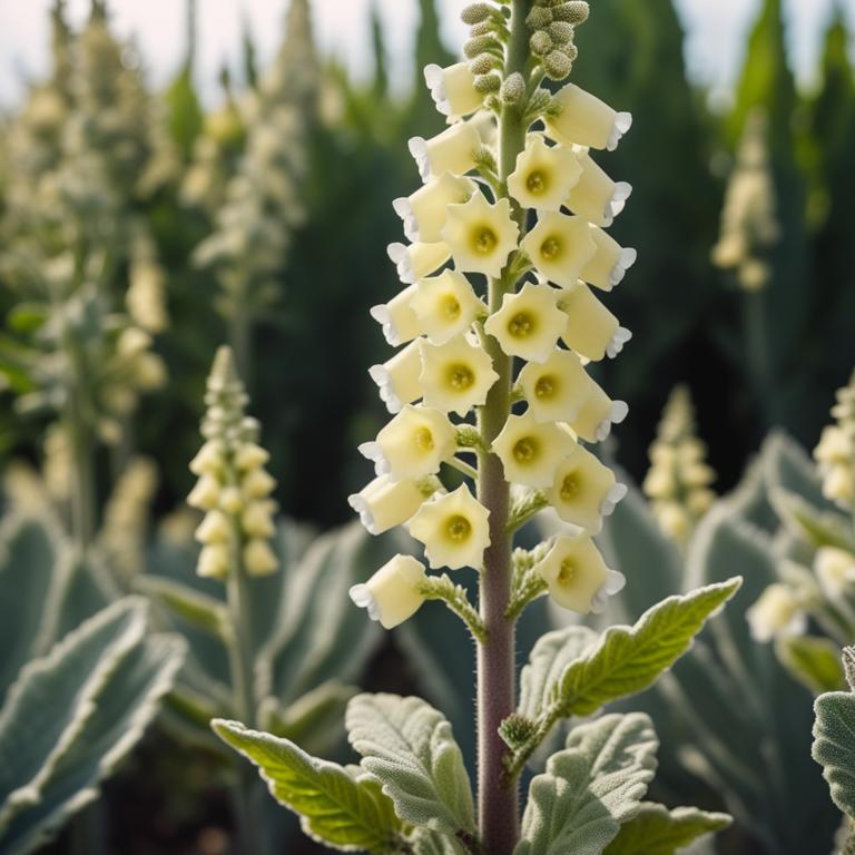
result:
<svg viewBox="0 0 855 855"><path fill-rule="evenodd" d="M550 285L527 282L515 294L502 297L502 307L484 324L509 356L544 362L556 350L567 316L556 305L558 292Z"/></svg>

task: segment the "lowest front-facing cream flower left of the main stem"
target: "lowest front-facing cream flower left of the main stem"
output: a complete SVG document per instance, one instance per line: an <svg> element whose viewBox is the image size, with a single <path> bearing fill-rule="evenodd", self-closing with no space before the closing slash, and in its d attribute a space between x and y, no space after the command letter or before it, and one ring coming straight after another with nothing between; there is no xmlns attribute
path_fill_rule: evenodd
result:
<svg viewBox="0 0 855 855"><path fill-rule="evenodd" d="M461 484L454 492L424 502L407 523L410 533L424 543L428 562L434 569L479 569L490 546L487 510Z"/></svg>

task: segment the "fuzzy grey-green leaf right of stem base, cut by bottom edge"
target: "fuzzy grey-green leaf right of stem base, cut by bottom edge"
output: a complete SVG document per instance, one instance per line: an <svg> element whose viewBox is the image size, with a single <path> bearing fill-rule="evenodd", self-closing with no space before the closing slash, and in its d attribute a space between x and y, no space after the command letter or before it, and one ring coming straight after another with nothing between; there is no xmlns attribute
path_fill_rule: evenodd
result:
<svg viewBox="0 0 855 855"><path fill-rule="evenodd" d="M514 855L600 855L638 812L658 746L652 723L640 712L574 728L567 749L531 782Z"/></svg>

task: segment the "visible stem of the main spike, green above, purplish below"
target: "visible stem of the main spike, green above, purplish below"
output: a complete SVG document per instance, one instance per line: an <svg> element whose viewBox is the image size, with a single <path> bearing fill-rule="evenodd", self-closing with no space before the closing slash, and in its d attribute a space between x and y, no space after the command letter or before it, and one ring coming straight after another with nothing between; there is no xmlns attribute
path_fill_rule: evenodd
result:
<svg viewBox="0 0 855 855"><path fill-rule="evenodd" d="M525 17L531 0L513 0L511 40L505 75L523 71L528 59ZM499 177L504 184L514 170L517 156L525 147L525 126L519 110L504 108L499 120ZM524 230L524 213L512 206L520 232ZM515 282L512 277L491 279L490 312L501 308L502 298ZM484 336L499 380L490 390L479 413L479 430L484 448L491 448L511 409L512 360L499 343ZM478 806L483 849L490 855L510 855L519 839L519 792L515 782L504 776L505 745L499 727L517 705L517 669L514 660L514 621L504 616L511 599L511 535L507 531L510 512L510 488L504 470L493 453L480 455L479 501L490 511L490 547L484 552L480 578L481 620L487 640L478 646Z"/></svg>

